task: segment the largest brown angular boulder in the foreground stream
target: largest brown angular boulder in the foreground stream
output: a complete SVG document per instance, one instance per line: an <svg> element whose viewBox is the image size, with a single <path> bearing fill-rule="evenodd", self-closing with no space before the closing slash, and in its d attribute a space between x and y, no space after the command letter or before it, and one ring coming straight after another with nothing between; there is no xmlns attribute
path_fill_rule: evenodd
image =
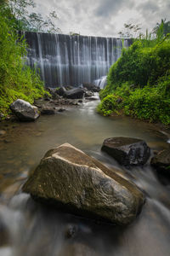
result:
<svg viewBox="0 0 170 256"><path fill-rule="evenodd" d="M116 224L131 223L144 203L133 183L68 143L45 154L23 191L67 212Z"/></svg>

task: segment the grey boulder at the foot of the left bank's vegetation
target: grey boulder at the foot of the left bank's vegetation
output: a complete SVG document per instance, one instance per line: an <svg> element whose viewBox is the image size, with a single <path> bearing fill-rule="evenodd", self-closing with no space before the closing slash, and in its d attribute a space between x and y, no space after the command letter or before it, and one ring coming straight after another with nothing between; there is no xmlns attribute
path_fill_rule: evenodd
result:
<svg viewBox="0 0 170 256"><path fill-rule="evenodd" d="M10 105L10 109L20 121L35 121L39 117L37 107L20 99L13 102Z"/></svg>

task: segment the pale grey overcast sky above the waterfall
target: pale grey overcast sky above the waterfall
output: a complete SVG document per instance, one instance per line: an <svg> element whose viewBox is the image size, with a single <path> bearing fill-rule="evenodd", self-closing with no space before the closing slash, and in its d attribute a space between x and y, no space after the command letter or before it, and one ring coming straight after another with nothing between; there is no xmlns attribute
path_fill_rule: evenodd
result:
<svg viewBox="0 0 170 256"><path fill-rule="evenodd" d="M37 11L56 11L62 33L117 37L124 23L140 24L149 31L161 18L170 20L170 0L35 0Z"/></svg>

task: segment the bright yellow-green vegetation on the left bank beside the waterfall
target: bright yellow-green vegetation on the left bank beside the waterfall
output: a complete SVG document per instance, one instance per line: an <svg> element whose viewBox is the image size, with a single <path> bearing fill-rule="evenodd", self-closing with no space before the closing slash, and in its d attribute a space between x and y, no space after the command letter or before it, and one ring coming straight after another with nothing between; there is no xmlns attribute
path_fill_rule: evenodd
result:
<svg viewBox="0 0 170 256"><path fill-rule="evenodd" d="M16 1L15 1L16 2ZM17 98L33 103L45 93L35 70L26 66L26 42L17 32L18 20L7 1L0 3L0 113L9 113Z"/></svg>

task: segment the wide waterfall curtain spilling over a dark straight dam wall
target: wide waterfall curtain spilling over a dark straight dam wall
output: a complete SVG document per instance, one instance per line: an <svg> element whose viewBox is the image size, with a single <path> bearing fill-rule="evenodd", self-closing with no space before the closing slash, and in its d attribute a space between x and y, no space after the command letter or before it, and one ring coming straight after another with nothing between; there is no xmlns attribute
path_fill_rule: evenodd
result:
<svg viewBox="0 0 170 256"><path fill-rule="evenodd" d="M37 67L46 86L97 83L120 57L122 39L26 32L27 64ZM131 40L124 40L128 47ZM103 83L104 84L104 83Z"/></svg>

